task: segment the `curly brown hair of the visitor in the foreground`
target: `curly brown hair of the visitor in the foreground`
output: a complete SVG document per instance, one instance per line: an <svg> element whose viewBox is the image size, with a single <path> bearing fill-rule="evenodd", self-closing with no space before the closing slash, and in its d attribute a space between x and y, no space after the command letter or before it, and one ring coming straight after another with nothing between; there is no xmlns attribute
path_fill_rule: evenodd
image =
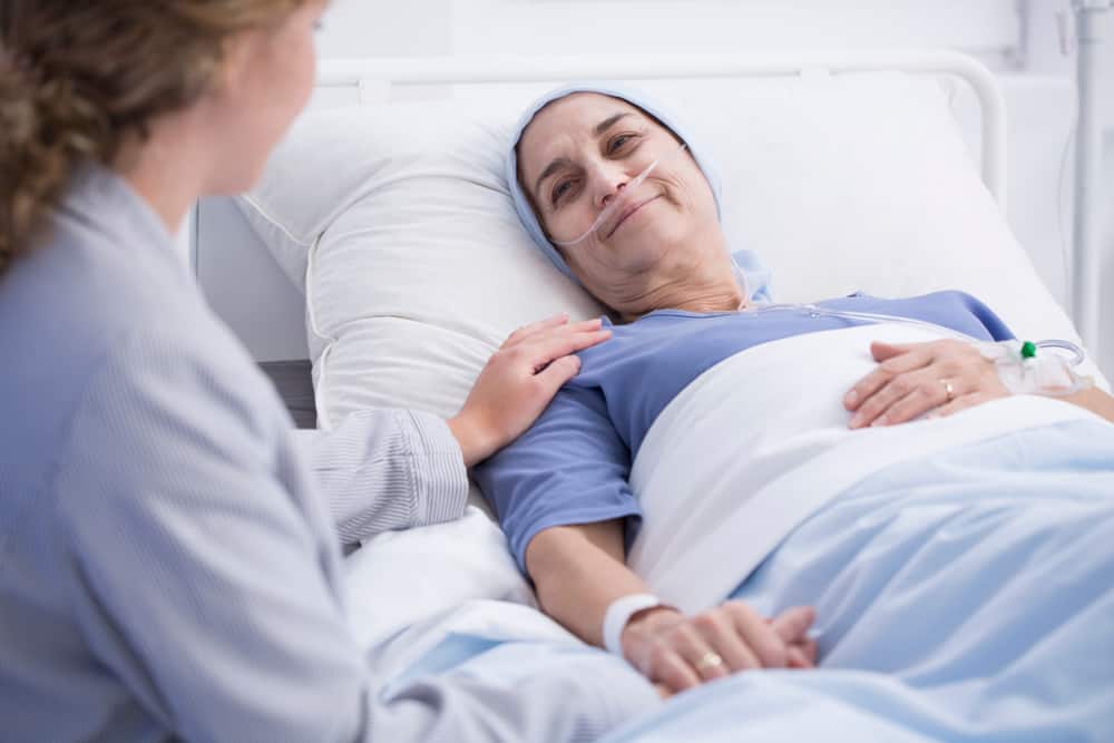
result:
<svg viewBox="0 0 1114 743"><path fill-rule="evenodd" d="M213 84L227 40L309 0L0 0L0 276L76 172Z"/></svg>

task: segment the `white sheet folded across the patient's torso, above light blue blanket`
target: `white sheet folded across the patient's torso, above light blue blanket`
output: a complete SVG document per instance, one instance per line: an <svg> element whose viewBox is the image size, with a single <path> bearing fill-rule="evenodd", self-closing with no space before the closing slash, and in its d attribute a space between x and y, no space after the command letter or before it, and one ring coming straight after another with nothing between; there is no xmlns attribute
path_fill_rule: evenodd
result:
<svg viewBox="0 0 1114 743"><path fill-rule="evenodd" d="M631 485L644 511L628 563L665 600L713 606L789 532L872 472L1009 431L1088 418L1014 397L959 414L852 431L842 399L873 370L870 342L932 340L885 324L765 343L713 366L658 416Z"/></svg>

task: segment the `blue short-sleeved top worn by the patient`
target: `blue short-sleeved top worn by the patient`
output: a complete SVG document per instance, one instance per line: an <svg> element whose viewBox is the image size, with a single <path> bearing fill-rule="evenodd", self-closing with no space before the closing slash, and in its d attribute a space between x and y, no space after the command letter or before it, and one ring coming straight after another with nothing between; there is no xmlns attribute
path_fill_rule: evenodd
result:
<svg viewBox="0 0 1114 743"><path fill-rule="evenodd" d="M980 340L1013 338L994 312L961 292L906 300L853 295L819 306L912 317ZM659 310L614 326L610 340L580 352L579 374L534 427L475 468L519 567L525 570L530 539L555 526L623 518L627 545L634 540L642 517L627 483L631 462L662 410L704 371L761 343L864 322L808 309Z"/></svg>

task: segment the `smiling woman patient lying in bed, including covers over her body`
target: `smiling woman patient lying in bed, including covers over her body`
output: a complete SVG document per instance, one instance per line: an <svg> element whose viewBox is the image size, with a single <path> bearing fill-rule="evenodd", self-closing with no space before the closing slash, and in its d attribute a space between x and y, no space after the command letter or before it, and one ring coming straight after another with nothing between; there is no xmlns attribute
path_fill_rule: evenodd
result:
<svg viewBox="0 0 1114 743"><path fill-rule="evenodd" d="M673 690L808 665L814 641L821 671L786 683L874 684L922 731L1114 734L1114 400L995 344L958 292L763 302L672 117L574 90L524 117L508 179L623 323L476 470L543 609ZM1038 363L1061 375L1018 375ZM794 606L808 638L766 628L803 630Z"/></svg>

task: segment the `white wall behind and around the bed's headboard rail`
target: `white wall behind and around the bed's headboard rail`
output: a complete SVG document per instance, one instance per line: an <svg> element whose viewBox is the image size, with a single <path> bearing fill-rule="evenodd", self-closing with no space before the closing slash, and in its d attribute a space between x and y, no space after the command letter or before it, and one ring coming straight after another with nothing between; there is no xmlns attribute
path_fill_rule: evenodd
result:
<svg viewBox="0 0 1114 743"><path fill-rule="evenodd" d="M1054 296L1065 303L1061 246L1072 225L1066 135L1074 116L1068 7L1069 0L333 0L319 48L322 58L671 55L780 46L960 49L998 72L1006 86L1008 218ZM1114 18L1107 23L1114 37ZM1114 38L1106 60L1114 92ZM1114 105L1106 121L1105 201L1114 203ZM1103 245L1102 366L1114 375L1114 209L1105 215Z"/></svg>

